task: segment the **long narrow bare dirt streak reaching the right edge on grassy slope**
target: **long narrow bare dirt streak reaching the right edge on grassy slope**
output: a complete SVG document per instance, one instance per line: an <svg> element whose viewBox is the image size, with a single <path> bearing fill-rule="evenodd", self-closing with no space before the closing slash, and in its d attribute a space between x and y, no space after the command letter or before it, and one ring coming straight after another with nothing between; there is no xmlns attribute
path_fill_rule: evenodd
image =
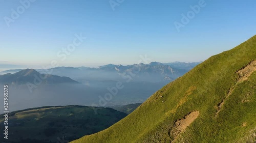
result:
<svg viewBox="0 0 256 143"><path fill-rule="evenodd" d="M249 65L245 66L243 69L239 70L237 72L237 74L239 75L239 78L236 82L236 85L242 81L248 80L248 77L254 72L256 71L256 61L252 61ZM236 85L233 85L233 87L231 87L229 89L229 92L226 96L226 98L228 98L234 91L234 89L236 88ZM226 98L219 104L218 106L218 111L216 112L215 117L217 117L219 115L219 112L221 111L221 107L224 104L224 101L226 100Z"/></svg>

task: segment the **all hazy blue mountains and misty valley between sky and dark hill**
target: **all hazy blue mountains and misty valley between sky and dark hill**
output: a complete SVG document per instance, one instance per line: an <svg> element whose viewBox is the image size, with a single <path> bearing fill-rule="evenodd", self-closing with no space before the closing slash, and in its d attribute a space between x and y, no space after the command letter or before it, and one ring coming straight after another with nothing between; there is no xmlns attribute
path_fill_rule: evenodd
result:
<svg viewBox="0 0 256 143"><path fill-rule="evenodd" d="M183 67L185 65L191 66L191 63L181 64ZM13 93L10 109L13 111L70 104L114 106L141 103L187 71L158 62L129 66L109 64L99 68L17 69L2 72L14 73L0 75L0 84L10 86ZM123 88L113 96L111 89L115 89L117 83L121 83ZM113 98L105 100L106 94L111 94ZM58 100L60 98L62 100Z"/></svg>

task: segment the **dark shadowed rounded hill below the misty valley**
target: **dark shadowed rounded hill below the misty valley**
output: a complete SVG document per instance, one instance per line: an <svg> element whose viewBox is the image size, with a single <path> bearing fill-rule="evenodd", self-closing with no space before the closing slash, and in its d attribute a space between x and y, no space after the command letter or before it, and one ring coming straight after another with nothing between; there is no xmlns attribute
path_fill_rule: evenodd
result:
<svg viewBox="0 0 256 143"><path fill-rule="evenodd" d="M87 106L48 106L9 113L9 138L12 143L49 143L57 138L74 140L110 127L126 116L111 108ZM4 129L4 116L0 127ZM5 141L3 137L1 141Z"/></svg>

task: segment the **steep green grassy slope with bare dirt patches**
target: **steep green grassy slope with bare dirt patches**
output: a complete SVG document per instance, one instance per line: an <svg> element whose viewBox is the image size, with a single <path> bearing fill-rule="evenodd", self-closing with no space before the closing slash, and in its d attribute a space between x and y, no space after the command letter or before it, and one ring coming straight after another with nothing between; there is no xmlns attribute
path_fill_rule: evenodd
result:
<svg viewBox="0 0 256 143"><path fill-rule="evenodd" d="M211 56L110 128L72 143L254 142L254 60L256 36Z"/></svg>

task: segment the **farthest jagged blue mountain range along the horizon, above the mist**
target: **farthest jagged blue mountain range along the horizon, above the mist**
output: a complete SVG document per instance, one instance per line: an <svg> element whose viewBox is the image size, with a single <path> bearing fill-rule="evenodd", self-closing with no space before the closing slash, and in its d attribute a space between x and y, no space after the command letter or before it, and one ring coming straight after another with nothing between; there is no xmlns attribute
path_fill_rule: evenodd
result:
<svg viewBox="0 0 256 143"><path fill-rule="evenodd" d="M134 64L128 66L122 65L105 65L98 68L88 67L56 67L51 69L36 69L41 74L52 74L58 76L67 76L79 82L83 80L124 80L125 76L132 76L134 81L149 81L159 82L163 80L172 81L177 77L182 76L191 68L198 65L198 63L158 63L152 62L150 64ZM15 73L21 71L7 70L0 72L0 74Z"/></svg>

